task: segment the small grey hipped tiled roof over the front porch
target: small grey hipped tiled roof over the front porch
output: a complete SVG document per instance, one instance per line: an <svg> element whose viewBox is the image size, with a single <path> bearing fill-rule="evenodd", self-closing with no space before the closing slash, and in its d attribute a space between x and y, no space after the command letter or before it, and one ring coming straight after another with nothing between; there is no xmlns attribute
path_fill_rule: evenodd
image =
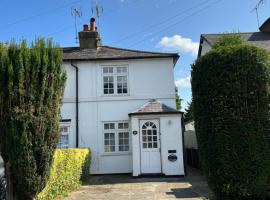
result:
<svg viewBox="0 0 270 200"><path fill-rule="evenodd" d="M129 115L143 115L143 114L179 114L182 113L174 108L171 108L155 99L148 101L140 108Z"/></svg>

